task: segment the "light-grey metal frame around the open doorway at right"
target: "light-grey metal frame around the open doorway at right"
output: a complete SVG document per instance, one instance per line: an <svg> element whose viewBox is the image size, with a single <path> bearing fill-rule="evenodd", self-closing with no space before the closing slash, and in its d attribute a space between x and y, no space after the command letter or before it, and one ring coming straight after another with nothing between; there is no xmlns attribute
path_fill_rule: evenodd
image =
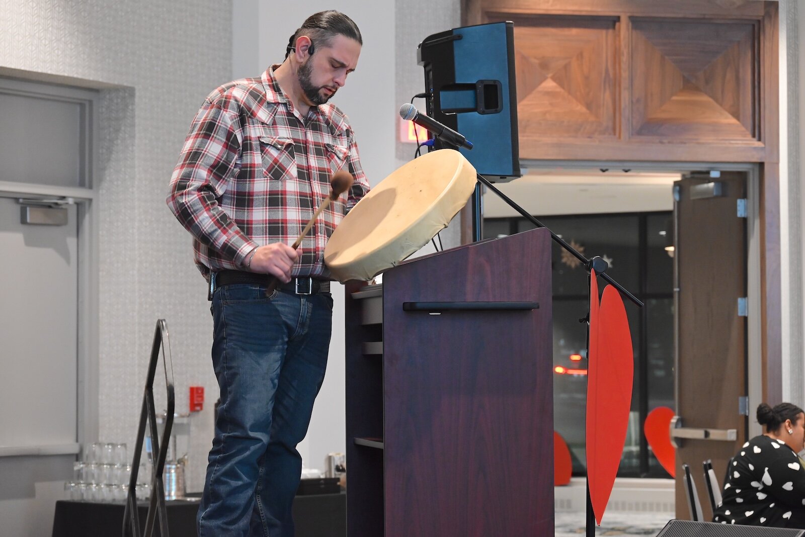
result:
<svg viewBox="0 0 805 537"><path fill-rule="evenodd" d="M742 171L746 174L746 293L749 317L746 319L746 375L749 396L749 438L762 433L762 427L751 419L753 407L763 399L764 364L762 342L762 229L761 229L761 164L755 162L628 162L628 161L549 161L521 160L523 173L528 169L659 171L684 173L703 170ZM516 200L515 200L516 201ZM676 322L676 314L675 314ZM676 332L676 330L675 330ZM677 350L675 349L675 354ZM676 362L676 356L675 356ZM766 384L768 384L766 382ZM676 389L676 387L675 387Z"/></svg>

